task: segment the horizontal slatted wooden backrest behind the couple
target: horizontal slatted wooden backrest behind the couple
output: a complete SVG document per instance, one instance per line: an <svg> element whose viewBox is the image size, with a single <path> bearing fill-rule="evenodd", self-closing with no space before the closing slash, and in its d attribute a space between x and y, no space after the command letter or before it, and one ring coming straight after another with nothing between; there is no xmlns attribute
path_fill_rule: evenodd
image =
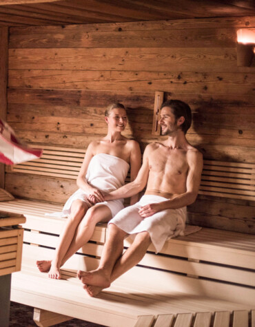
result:
<svg viewBox="0 0 255 327"><path fill-rule="evenodd" d="M84 155L85 149L45 146L40 159L8 167L7 171L75 180ZM205 160L199 193L254 200L255 164Z"/></svg>

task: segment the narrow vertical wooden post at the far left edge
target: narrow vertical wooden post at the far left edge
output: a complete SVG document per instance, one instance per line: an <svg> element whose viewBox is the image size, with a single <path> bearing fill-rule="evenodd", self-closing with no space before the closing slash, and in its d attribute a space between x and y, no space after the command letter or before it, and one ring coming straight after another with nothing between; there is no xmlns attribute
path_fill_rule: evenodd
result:
<svg viewBox="0 0 255 327"><path fill-rule="evenodd" d="M0 118L6 120L8 78L8 28L0 28ZM0 163L0 188L4 188L5 167Z"/></svg>

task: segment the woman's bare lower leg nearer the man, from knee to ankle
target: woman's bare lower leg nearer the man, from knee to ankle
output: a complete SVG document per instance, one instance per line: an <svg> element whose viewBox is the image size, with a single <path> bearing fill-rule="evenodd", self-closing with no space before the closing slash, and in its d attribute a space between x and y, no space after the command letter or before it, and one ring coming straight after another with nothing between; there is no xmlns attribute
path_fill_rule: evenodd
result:
<svg viewBox="0 0 255 327"><path fill-rule="evenodd" d="M61 266L90 240L98 222L108 222L111 218L112 212L105 204L97 204L88 209L85 217L76 229L72 243L63 257Z"/></svg>

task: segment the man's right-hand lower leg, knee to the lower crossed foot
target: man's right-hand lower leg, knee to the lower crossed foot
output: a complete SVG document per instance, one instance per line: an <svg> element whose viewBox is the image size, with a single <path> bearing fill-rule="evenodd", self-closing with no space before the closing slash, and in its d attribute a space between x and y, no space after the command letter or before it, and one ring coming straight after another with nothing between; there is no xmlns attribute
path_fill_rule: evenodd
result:
<svg viewBox="0 0 255 327"><path fill-rule="evenodd" d="M130 270L133 266L136 266L136 264L143 259L151 242L150 234L147 233L147 231L137 234L131 246L125 251L125 253L123 253L123 255L121 255L121 257L119 257L119 260L116 261L112 274L110 275L110 278L108 277L107 286L99 284L96 279L81 279L83 284L85 284L84 288L88 294L90 296L96 296L103 288L109 287L111 282L123 275L126 271ZM107 264L108 263L105 262L105 265Z"/></svg>

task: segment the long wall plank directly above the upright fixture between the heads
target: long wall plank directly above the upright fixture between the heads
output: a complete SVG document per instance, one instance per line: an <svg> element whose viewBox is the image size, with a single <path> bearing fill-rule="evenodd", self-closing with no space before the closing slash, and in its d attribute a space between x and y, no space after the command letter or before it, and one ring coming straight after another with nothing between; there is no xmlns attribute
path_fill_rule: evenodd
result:
<svg viewBox="0 0 255 327"><path fill-rule="evenodd" d="M156 56L156 54L155 54ZM124 56L125 58L125 56ZM124 59L123 59L124 60ZM156 59L154 59L156 61ZM33 63L27 63L26 69L13 67L9 70L9 87L32 87L44 89L88 89L112 91L119 85L119 92L128 92L130 88L136 92L154 92L155 89L163 89L164 92L181 92L183 94L207 93L207 94L252 94L253 74L244 72L218 72L210 70L205 75L199 71L181 72L180 70L158 72L144 71L144 67L139 67L137 71L134 68L127 67L125 72L121 67L111 72L103 70L103 67L84 67L79 71L72 67L59 70L57 67L52 69L41 67L37 70L35 67L29 68ZM134 66L134 63L133 63ZM101 68L101 70L100 70ZM207 69L206 69L207 70ZM76 78L75 78L75 76ZM245 82L243 80L245 79ZM243 82L243 84L241 84ZM198 118L207 117L205 113L199 113ZM219 117L218 117L219 118ZM218 119L214 117L213 121ZM245 117L242 118L244 120ZM210 120L206 119L208 124ZM222 122L221 122L222 123ZM249 122L252 124L252 122ZM230 123L231 124L231 123ZM240 127L240 125L239 125Z"/></svg>

